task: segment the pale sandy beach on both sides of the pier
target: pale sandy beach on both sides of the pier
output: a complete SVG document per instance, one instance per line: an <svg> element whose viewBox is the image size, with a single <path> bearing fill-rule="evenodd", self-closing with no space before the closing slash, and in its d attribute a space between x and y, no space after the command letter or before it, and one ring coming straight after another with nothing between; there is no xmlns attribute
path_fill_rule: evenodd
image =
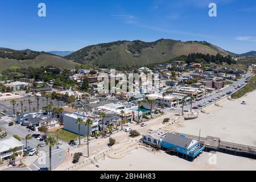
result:
<svg viewBox="0 0 256 182"><path fill-rule="evenodd" d="M242 100L246 100L247 104L242 105ZM202 137L213 136L227 142L256 146L256 91L238 100L222 100L219 104L223 107L213 104L206 109L209 114L200 113L198 118L185 121L174 131L199 135L201 129ZM120 158L113 159L110 153L110 158L107 156L105 160L98 160L99 168L89 164L78 170L256 170L256 160L221 152L217 152L216 163L210 164L212 156L208 152L188 162L163 151L152 152L142 147L129 149L125 146L119 150L122 150Z"/></svg>

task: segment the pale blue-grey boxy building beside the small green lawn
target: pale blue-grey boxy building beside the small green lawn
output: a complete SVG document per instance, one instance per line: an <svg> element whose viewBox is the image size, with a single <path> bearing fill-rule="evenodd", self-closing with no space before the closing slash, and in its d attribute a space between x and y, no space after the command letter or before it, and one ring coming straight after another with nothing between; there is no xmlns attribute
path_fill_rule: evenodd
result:
<svg viewBox="0 0 256 182"><path fill-rule="evenodd" d="M64 130L71 131L72 133L79 134L79 125L77 125L77 118L82 118L84 122L86 119L92 119L93 125L89 127L89 133L94 135L98 134L98 125L100 121L100 117L96 114L92 113L67 113L64 114L63 123L64 123ZM81 125L80 126L80 135L85 136L87 135L87 126Z"/></svg>

